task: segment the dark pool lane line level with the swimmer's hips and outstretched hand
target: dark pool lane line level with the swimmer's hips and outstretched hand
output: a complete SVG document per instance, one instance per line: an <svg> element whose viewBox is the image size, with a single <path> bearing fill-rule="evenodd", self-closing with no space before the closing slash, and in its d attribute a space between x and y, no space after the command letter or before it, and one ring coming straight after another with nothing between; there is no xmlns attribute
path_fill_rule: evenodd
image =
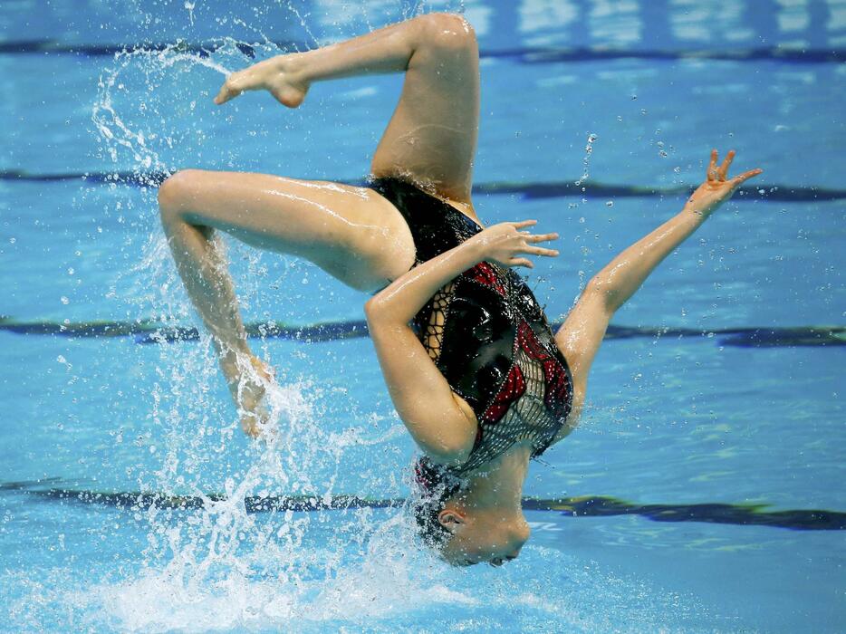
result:
<svg viewBox="0 0 846 634"><path fill-rule="evenodd" d="M168 172L55 172L38 174L22 169L0 170L0 180L11 182L58 182L80 180L86 183L119 184L135 187L159 187L168 178ZM357 187L367 187L363 179L335 179L336 182ZM544 198L587 197L587 198L643 198L643 197L683 197L696 186L676 185L673 187L644 187L639 185L615 185L591 181L576 185L574 180L540 181L518 183L513 181L493 181L476 183L473 193L477 195L511 195L524 200ZM582 190L583 189L583 190ZM737 196L754 197L768 202L824 202L846 198L846 189L831 187L807 187L779 184L763 184L738 187Z"/></svg>

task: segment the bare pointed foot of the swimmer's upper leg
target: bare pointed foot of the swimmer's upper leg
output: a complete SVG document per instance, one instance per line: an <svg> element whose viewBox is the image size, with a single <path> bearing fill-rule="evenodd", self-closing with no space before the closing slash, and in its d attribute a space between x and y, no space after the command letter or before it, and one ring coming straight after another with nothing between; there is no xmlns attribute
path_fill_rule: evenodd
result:
<svg viewBox="0 0 846 634"><path fill-rule="evenodd" d="M233 72L226 77L226 82L215 97L215 103L219 106L245 91L269 91L282 105L296 108L303 103L305 93L309 90L309 82L300 72L303 64L299 55L276 55L243 71Z"/></svg>

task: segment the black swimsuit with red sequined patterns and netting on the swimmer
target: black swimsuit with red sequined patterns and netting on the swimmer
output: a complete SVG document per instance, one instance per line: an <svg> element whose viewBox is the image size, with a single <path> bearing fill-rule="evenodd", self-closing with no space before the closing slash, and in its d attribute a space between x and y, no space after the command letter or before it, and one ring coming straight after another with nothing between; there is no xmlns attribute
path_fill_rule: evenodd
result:
<svg viewBox="0 0 846 634"><path fill-rule="evenodd" d="M460 245L482 228L455 207L399 178L368 186L406 219L417 248L415 265ZM572 376L541 306L513 269L482 262L440 289L415 315L418 338L479 421L476 443L453 476L485 465L521 440L540 456L572 407ZM437 467L418 462L421 485Z"/></svg>

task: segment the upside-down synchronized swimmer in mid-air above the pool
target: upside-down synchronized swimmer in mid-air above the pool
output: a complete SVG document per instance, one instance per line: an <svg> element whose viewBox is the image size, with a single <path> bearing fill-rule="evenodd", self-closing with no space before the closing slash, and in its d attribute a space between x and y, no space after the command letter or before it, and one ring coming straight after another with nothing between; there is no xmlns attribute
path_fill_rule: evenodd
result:
<svg viewBox="0 0 846 634"><path fill-rule="evenodd" d="M501 565L528 539L521 509L529 461L567 436L611 315L702 225L752 169L717 164L682 210L588 283L551 331L515 266L554 257L533 220L485 227L471 200L479 114L473 29L426 14L307 53L234 72L217 104L266 90L296 108L313 82L405 72L370 165L369 187L264 174L179 171L159 189L178 272L215 342L247 434L261 434L273 374L250 351L215 230L310 260L375 292L364 311L390 398L423 456L419 533L447 562ZM324 148L322 151L332 151Z"/></svg>

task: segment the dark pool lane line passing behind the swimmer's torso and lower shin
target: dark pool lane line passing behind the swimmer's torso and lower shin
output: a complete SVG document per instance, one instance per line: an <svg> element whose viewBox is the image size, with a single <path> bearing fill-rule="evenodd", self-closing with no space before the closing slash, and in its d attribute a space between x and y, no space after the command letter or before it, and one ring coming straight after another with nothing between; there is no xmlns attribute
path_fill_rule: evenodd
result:
<svg viewBox="0 0 846 634"><path fill-rule="evenodd" d="M553 322L553 329L561 323ZM361 339L368 336L367 322L322 322L305 325L284 322L259 322L245 325L247 335L255 339L283 339L318 343ZM0 331L23 335L52 335L70 338L134 337L140 344L198 341L200 333L190 326L165 326L157 322L19 322L0 315ZM764 328L670 328L620 326L611 324L606 340L619 339L714 339L717 345L737 348L790 348L796 346L846 346L846 326L797 326Z"/></svg>

